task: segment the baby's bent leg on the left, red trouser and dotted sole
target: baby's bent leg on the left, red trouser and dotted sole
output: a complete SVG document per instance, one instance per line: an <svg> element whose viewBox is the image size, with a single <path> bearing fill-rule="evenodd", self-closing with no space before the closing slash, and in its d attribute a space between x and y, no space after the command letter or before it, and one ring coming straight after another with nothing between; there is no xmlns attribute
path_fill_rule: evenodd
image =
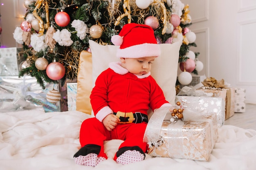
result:
<svg viewBox="0 0 256 170"><path fill-rule="evenodd" d="M95 117L83 121L79 137L82 148L74 155L75 162L80 165L96 166L108 159L103 141L109 138L110 132Z"/></svg>

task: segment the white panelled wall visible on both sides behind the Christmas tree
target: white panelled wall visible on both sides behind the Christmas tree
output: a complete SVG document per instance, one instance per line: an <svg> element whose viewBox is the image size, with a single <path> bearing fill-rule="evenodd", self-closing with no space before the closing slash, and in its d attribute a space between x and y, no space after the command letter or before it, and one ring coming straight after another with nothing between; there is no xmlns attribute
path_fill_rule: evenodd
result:
<svg viewBox="0 0 256 170"><path fill-rule="evenodd" d="M246 102L256 104L256 0L182 0L189 4L199 60L204 63L199 75L225 79L234 87L246 89ZM0 0L1 45L17 46L16 26L24 21L23 0ZM20 15L19 15L20 14Z"/></svg>

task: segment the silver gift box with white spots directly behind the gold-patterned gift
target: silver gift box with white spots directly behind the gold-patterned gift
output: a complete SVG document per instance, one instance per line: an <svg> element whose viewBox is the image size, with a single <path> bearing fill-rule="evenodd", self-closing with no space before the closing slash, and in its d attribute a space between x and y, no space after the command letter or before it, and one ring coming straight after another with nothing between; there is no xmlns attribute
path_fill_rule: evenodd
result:
<svg viewBox="0 0 256 170"><path fill-rule="evenodd" d="M180 102L182 109L216 113L219 126L225 122L225 101L222 97L176 96L175 102Z"/></svg>

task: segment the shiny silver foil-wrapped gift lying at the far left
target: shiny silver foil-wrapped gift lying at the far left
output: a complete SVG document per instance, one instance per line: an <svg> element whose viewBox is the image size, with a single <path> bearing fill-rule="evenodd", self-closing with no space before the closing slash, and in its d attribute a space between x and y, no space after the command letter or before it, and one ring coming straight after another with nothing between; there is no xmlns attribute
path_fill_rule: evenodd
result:
<svg viewBox="0 0 256 170"><path fill-rule="evenodd" d="M53 88L57 90L58 84L45 83L45 89L43 89L36 83L36 78L30 76L0 77L0 102L12 104L22 99L35 106L43 106L45 112L60 111L60 102L50 103L46 99L46 94Z"/></svg>

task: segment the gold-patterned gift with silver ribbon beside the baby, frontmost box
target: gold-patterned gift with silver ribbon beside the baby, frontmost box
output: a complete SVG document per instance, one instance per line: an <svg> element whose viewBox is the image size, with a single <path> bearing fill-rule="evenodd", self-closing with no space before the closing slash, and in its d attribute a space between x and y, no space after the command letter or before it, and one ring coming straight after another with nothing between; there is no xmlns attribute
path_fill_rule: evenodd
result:
<svg viewBox="0 0 256 170"><path fill-rule="evenodd" d="M164 110L157 111L164 113ZM218 138L216 114L189 112L186 115L183 112L184 118L198 115L175 123L166 117L162 121L159 113L153 114L144 136L150 156L208 161ZM164 115L162 113L159 114L161 117Z"/></svg>

